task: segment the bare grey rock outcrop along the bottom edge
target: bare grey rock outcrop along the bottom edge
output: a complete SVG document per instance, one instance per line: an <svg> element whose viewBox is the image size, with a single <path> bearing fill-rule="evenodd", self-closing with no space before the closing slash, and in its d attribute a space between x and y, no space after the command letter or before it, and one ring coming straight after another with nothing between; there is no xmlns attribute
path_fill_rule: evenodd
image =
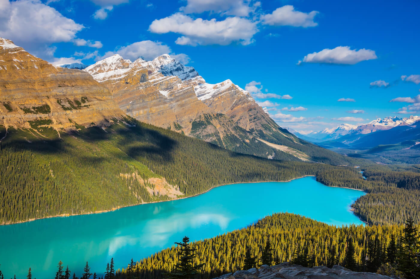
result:
<svg viewBox="0 0 420 279"><path fill-rule="evenodd" d="M346 279L386 279L391 278L370 272L355 272L342 266L335 265L331 269L326 266L303 267L289 263L276 266L263 265L260 269L239 270L234 274L225 274L216 279L325 279L325 278L346 278Z"/></svg>

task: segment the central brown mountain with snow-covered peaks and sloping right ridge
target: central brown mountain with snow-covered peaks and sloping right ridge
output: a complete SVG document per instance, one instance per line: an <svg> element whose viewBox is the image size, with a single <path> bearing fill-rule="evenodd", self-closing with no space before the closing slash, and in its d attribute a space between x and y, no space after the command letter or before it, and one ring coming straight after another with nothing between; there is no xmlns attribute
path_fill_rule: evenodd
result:
<svg viewBox="0 0 420 279"><path fill-rule="evenodd" d="M193 67L168 54L134 62L115 54L84 71L110 90L120 109L139 121L264 158L336 157L315 156L325 150L281 129L249 92L231 80L206 83Z"/></svg>

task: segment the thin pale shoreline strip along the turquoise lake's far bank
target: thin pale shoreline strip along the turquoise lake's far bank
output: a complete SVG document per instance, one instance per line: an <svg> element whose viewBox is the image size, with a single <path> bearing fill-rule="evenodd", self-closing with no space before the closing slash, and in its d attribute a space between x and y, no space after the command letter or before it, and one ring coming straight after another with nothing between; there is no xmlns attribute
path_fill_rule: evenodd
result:
<svg viewBox="0 0 420 279"><path fill-rule="evenodd" d="M210 191L212 189L215 189L217 187L220 187L220 186L227 186L227 185L233 185L233 184L245 184L245 183L265 183L265 182L281 182L281 183L283 183L283 182L290 182L290 181L295 180L295 179L300 179L300 178L309 177L309 176L316 177L314 175L307 175L307 176L300 176L300 177L296 177L296 178L291 178L291 179L289 179L287 181L252 181L252 182L236 182L236 183L230 183L230 184L221 184L221 185L213 186L210 189L206 190L205 192L202 192L202 193L199 193L199 194L195 194L193 196L184 196L184 197L179 197L179 198L175 198L175 199L168 199L166 201L144 202L144 203L141 203L141 204L124 205L124 206L114 207L112 209L98 210L98 211L95 211L95 212L85 212L85 213L77 213L77 214L58 214L58 215L54 215L54 216L46 216L46 217L41 217L41 218L32 218L32 219L25 220L25 221L1 223L0 226L3 226L3 225L22 224L22 223L32 222L32 221L36 221L36 220L42 220L42 219L48 219L48 218L55 218L55 217L70 217L70 216L87 215L87 214L100 214L100 213L105 213L105 212L113 212L113 211L118 210L118 209L121 209L121 208L134 207L134 206L138 206L138 205L142 205L142 204L155 204L155 203L159 203L159 202L171 202L171 201L176 201L176 200L179 200L179 199L188 199L188 198L192 198L194 196L199 196L199 195L202 195L202 194L206 194L208 191ZM351 189L351 190L363 191L361 189L354 189L354 188L349 188L349 187L328 186L328 185L325 185L325 184L323 184L323 185L324 186L327 186L327 187L333 187L333 188L344 188L344 189ZM353 214L354 214L354 212L353 212ZM365 222L357 214L354 214L354 215L356 215L357 218L359 218L362 222ZM367 222L365 222L365 223L367 224Z"/></svg>

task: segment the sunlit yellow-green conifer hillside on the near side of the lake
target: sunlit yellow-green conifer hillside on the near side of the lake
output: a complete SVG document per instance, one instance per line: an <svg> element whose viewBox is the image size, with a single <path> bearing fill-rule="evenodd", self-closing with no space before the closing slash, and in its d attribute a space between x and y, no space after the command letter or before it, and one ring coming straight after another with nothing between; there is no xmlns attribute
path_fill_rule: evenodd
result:
<svg viewBox="0 0 420 279"><path fill-rule="evenodd" d="M202 270L207 278L241 270L250 259L255 262L254 267L260 266L267 241L272 249L268 251L271 264L285 261L302 266L340 264L352 270L376 272L383 264L398 263L400 270L407 272L407 278L414 278L408 271L419 274L420 270L410 263L408 246L420 239L411 225L334 227L280 213L192 246L197 249L195 264L204 264ZM251 252L248 258L247 249ZM168 248L137 263L141 278L162 278L162 272L171 271L178 262L178 251L179 247ZM117 272L117 278L126 277L125 270L121 272L121 275Z"/></svg>

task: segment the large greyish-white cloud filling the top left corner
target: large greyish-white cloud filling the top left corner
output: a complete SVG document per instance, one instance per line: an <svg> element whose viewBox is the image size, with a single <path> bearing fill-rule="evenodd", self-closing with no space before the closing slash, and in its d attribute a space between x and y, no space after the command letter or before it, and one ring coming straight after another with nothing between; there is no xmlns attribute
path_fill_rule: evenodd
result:
<svg viewBox="0 0 420 279"><path fill-rule="evenodd" d="M76 38L83 25L40 0L0 0L0 34L30 51Z"/></svg>

